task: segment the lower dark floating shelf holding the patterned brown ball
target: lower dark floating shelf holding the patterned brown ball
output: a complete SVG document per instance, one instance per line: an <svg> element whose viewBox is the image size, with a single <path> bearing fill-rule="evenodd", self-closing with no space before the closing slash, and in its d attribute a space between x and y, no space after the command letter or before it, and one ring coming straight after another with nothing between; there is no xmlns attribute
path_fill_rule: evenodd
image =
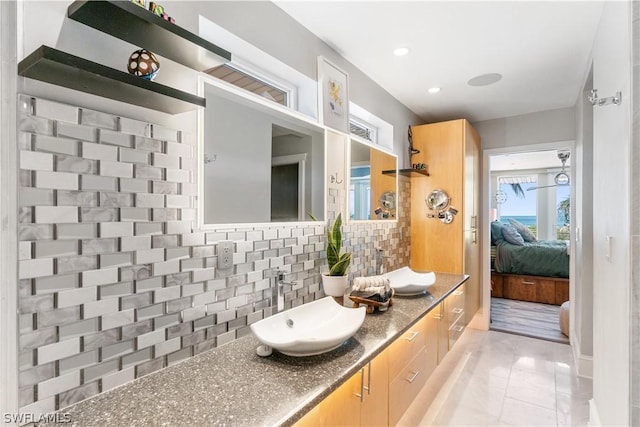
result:
<svg viewBox="0 0 640 427"><path fill-rule="evenodd" d="M205 106L199 96L44 45L20 61L18 74L169 114Z"/></svg>

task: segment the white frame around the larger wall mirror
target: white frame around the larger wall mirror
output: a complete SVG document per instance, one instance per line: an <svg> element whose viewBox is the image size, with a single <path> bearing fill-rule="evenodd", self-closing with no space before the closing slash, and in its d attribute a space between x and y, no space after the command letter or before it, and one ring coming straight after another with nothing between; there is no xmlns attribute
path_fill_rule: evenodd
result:
<svg viewBox="0 0 640 427"><path fill-rule="evenodd" d="M318 132L322 132L324 135L323 142L323 155L324 155L324 170L323 176L327 177L327 131L328 128L324 125L318 123L316 119L313 117L309 117L303 113L300 113L296 110L292 110L289 107L285 107L283 105L271 102L267 99L260 97L259 95L246 92L239 87L236 87L230 83L224 82L222 80L215 79L214 77L209 77L205 75L198 76L198 96L205 96L205 85L211 85L216 89L223 90L231 95L238 96L247 100L253 104L255 104L256 109L258 110L266 110L272 111L276 114L284 114L285 116L290 117L291 119L302 122L303 124L310 125L317 129ZM198 162L197 167L197 176L196 176L196 184L197 184L197 193L198 193L198 203L196 206L196 227L197 230L220 230L224 228L247 228L247 227L284 227L284 226L296 226L296 225L318 225L326 224L327 218L327 197L328 197L328 187L326 181L322 188L322 200L324 201L323 207L323 220L321 221L287 221L287 222L244 222L244 223L205 223L204 222L204 121L205 121L205 108L200 108L198 110L197 117L197 147L196 147L196 161Z"/></svg>

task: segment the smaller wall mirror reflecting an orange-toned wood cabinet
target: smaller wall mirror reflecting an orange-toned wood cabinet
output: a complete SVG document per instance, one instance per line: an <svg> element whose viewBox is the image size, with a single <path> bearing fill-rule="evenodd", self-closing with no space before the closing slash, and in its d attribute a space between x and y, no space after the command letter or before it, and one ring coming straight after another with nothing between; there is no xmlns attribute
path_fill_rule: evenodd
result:
<svg viewBox="0 0 640 427"><path fill-rule="evenodd" d="M351 138L349 158L349 219L396 220L398 157ZM391 199L393 208L391 209Z"/></svg>

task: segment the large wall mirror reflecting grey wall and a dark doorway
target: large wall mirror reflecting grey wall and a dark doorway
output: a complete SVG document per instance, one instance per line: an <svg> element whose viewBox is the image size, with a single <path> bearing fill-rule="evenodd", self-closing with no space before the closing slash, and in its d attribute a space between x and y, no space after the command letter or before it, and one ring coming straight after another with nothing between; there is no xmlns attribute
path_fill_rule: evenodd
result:
<svg viewBox="0 0 640 427"><path fill-rule="evenodd" d="M200 89L200 224L324 220L324 128L217 81Z"/></svg>

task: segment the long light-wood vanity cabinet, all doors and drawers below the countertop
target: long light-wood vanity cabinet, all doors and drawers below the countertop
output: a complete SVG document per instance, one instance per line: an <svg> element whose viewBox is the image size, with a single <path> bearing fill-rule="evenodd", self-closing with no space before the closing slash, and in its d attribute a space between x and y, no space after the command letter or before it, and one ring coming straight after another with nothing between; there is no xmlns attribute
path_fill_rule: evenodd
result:
<svg viewBox="0 0 640 427"><path fill-rule="evenodd" d="M455 289L295 425L396 425L464 331L465 289Z"/></svg>

